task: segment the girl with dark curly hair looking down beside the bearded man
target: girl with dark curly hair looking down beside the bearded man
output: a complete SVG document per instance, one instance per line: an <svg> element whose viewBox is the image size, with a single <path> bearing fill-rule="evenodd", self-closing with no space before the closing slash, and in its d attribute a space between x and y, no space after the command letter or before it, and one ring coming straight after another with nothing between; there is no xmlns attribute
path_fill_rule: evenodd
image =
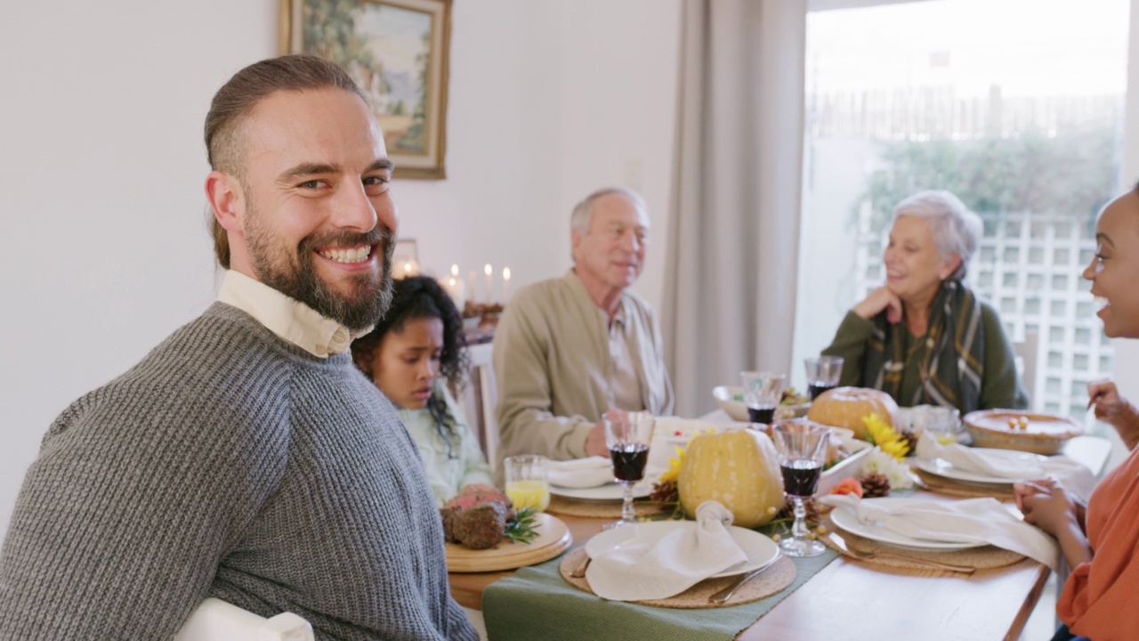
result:
<svg viewBox="0 0 1139 641"><path fill-rule="evenodd" d="M392 306L352 343L360 368L399 409L442 505L470 484L494 485L478 443L448 389L467 370L462 317L433 278L395 282Z"/></svg>

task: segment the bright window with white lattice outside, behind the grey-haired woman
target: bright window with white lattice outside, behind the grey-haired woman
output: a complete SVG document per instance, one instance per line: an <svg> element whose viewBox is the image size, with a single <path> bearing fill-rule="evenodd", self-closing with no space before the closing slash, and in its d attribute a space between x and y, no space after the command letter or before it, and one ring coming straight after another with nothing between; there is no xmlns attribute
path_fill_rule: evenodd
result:
<svg viewBox="0 0 1139 641"><path fill-rule="evenodd" d="M1129 3L940 0L809 14L796 364L882 285L893 205L943 188L984 221L970 286L1010 340L1039 336L1036 380L1025 381L1033 407L1083 415L1082 386L1113 366L1080 271L1096 213L1122 190Z"/></svg>

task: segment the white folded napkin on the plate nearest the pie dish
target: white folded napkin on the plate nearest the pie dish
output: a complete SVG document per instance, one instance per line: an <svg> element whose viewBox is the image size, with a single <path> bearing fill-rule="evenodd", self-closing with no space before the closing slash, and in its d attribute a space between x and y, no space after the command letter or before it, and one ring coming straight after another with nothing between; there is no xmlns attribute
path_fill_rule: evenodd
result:
<svg viewBox="0 0 1139 641"><path fill-rule="evenodd" d="M942 445L927 435L918 439L916 454L919 459L941 459L958 470L993 478L1055 478L1082 501L1087 501L1096 487L1091 470L1067 456L1049 456L1041 461L1034 454L1015 449L976 449L956 443Z"/></svg>

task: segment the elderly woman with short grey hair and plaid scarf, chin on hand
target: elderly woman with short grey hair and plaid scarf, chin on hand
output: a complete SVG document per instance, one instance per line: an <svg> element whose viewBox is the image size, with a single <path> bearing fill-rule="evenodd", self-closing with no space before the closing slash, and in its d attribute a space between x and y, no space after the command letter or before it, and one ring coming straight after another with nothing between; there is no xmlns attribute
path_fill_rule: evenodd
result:
<svg viewBox="0 0 1139 641"><path fill-rule="evenodd" d="M846 314L822 354L845 360L841 384L886 391L899 405L1027 407L997 311L965 285L981 219L949 192L894 208L886 284Z"/></svg>

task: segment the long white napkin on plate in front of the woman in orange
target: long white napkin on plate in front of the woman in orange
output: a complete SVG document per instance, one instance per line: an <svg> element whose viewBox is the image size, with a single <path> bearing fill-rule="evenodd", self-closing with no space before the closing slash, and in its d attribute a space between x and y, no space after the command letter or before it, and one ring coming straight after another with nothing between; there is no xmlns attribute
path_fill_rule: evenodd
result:
<svg viewBox="0 0 1139 641"><path fill-rule="evenodd" d="M819 501L855 517L867 527L880 528L919 541L983 543L1018 552L1056 569L1056 539L1014 517L995 498L923 501L891 505L877 498L829 494Z"/></svg>

